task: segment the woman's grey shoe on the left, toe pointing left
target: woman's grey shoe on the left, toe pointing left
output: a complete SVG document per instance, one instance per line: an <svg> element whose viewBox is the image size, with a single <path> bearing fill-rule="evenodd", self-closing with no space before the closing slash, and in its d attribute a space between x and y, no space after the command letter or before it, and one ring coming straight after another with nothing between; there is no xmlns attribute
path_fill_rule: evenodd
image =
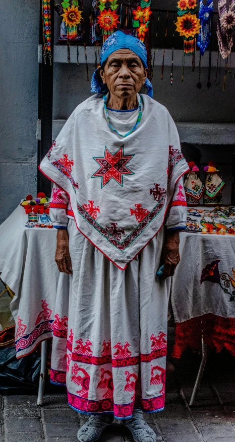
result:
<svg viewBox="0 0 235 442"><path fill-rule="evenodd" d="M113 421L113 414L92 415L87 422L78 430L79 442L95 442L102 434L107 425Z"/></svg>

